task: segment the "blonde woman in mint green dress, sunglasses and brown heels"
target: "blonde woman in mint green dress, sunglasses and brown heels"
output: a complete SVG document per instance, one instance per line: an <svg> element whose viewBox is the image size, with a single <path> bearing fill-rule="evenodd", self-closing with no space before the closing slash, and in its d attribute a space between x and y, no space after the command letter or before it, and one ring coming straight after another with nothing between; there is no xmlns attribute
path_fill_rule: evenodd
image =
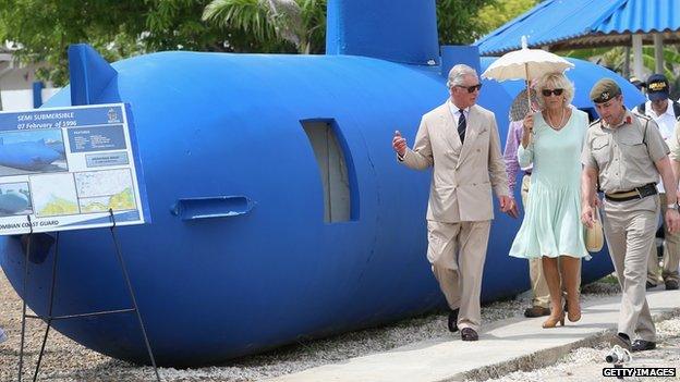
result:
<svg viewBox="0 0 680 382"><path fill-rule="evenodd" d="M588 119L571 106L573 85L563 74L543 76L536 89L543 111L524 119L518 149L520 165L534 167L529 202L510 256L542 258L550 292L550 317L543 328L555 328L558 322L564 324L564 309L570 321L581 319L581 258L590 257L580 221L580 155ZM562 289L567 292L564 305Z"/></svg>

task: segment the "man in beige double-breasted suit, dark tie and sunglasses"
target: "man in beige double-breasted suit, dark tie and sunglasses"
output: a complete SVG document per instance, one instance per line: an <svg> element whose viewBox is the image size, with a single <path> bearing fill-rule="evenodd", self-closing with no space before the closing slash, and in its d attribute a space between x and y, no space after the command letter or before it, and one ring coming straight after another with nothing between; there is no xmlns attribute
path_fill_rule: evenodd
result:
<svg viewBox="0 0 680 382"><path fill-rule="evenodd" d="M512 209L494 113L475 104L482 84L467 65L447 81L450 98L421 121L413 149L399 132L392 147L404 165L434 167L427 206L427 259L451 309L449 330L477 341L479 294L489 229L491 188L501 211Z"/></svg>

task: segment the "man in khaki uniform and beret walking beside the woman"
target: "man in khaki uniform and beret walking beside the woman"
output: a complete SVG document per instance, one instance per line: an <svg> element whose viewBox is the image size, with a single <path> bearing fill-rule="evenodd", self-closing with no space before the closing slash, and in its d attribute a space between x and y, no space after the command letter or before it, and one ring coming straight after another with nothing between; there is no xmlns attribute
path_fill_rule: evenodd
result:
<svg viewBox="0 0 680 382"><path fill-rule="evenodd" d="M619 284L622 289L618 333L615 342L633 352L656 347L656 330L645 298L649 246L659 214L656 182L666 185L666 223L671 232L680 227L677 181L668 146L649 119L623 107L619 86L609 78L597 82L591 99L600 120L591 124L583 145L582 221L592 226L599 205L597 182L605 193L603 226ZM638 335L631 346L631 338Z"/></svg>

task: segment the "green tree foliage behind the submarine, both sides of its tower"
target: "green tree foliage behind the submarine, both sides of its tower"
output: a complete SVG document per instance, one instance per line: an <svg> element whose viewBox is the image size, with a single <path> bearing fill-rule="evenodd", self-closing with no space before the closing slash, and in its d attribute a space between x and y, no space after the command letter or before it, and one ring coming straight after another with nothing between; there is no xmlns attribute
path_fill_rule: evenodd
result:
<svg viewBox="0 0 680 382"><path fill-rule="evenodd" d="M68 82L66 49L108 61L160 50L323 53L327 0L0 0L0 41ZM437 0L439 40L469 44L535 0ZM482 11L479 12L479 10ZM479 12L479 13L478 13Z"/></svg>

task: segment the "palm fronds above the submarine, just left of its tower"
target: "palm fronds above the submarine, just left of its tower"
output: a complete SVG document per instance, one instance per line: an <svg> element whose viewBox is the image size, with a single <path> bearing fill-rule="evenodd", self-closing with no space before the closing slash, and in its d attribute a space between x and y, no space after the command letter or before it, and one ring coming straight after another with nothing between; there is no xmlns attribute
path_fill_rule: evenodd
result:
<svg viewBox="0 0 680 382"><path fill-rule="evenodd" d="M265 46L288 41L300 53L324 51L326 0L212 0L203 20L243 30Z"/></svg>

